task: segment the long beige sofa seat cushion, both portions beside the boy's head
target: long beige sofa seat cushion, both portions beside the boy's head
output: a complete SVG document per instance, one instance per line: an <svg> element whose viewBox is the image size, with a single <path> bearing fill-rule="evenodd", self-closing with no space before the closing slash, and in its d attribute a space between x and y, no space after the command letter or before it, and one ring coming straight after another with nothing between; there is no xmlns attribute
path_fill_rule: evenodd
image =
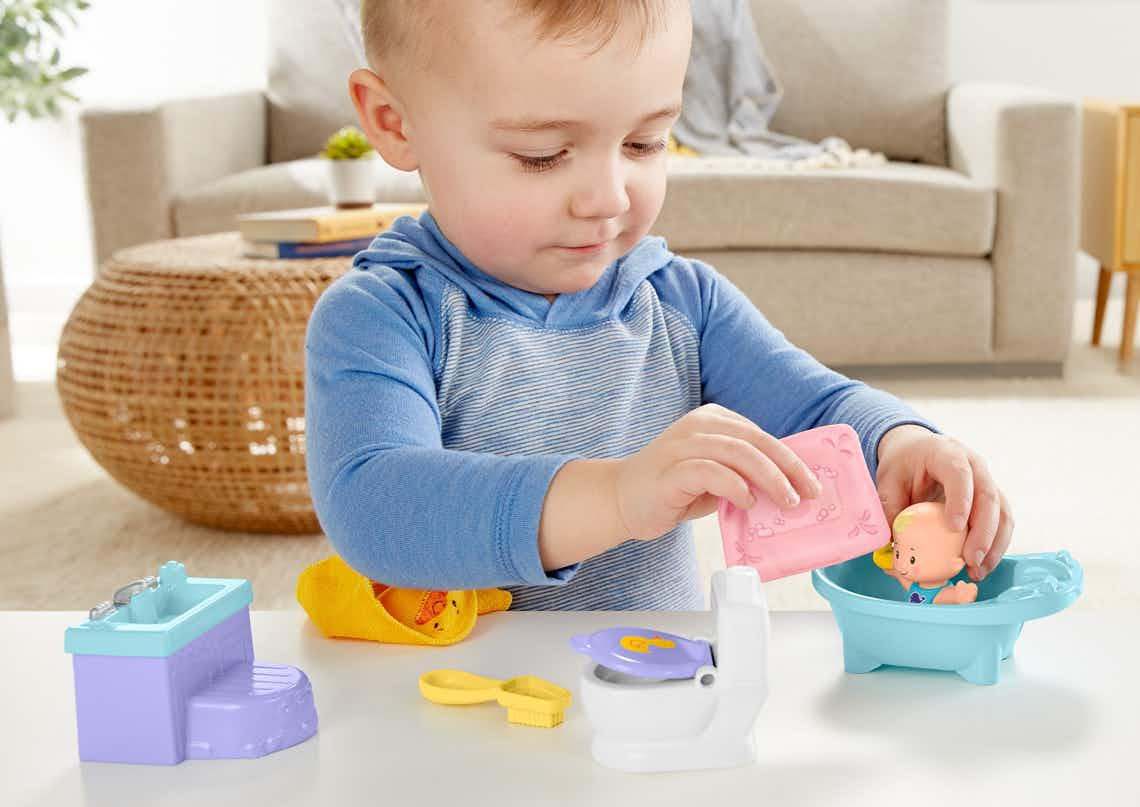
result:
<svg viewBox="0 0 1140 807"><path fill-rule="evenodd" d="M870 250L982 256L994 191L947 169L757 171L747 157L671 158L653 231L673 250ZM376 164L377 202L424 202L417 172ZM179 236L235 228L234 217L327 204L325 164L294 160L198 186L173 202Z"/></svg>

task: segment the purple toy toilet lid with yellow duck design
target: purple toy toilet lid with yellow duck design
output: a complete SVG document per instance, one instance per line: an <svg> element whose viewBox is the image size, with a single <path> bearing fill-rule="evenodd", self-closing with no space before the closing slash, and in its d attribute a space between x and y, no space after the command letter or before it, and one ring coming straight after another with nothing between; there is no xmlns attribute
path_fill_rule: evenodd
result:
<svg viewBox="0 0 1140 807"><path fill-rule="evenodd" d="M708 642L661 630L606 628L570 638L570 646L603 667L638 678L692 678L712 666Z"/></svg>

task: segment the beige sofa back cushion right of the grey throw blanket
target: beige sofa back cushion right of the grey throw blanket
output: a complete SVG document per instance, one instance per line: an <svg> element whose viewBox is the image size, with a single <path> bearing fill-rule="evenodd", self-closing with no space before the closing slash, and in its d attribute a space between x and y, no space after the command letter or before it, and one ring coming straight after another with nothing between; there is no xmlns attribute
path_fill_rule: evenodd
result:
<svg viewBox="0 0 1140 807"><path fill-rule="evenodd" d="M772 130L945 165L948 0L752 0L784 95Z"/></svg>

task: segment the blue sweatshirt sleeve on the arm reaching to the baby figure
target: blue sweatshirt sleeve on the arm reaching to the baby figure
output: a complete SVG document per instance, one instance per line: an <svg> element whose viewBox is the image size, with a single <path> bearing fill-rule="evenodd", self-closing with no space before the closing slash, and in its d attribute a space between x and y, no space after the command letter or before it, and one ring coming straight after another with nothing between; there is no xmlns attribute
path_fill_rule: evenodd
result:
<svg viewBox="0 0 1140 807"><path fill-rule="evenodd" d="M700 332L701 390L706 402L748 417L777 438L834 423L860 435L871 478L879 440L914 423L936 426L894 396L837 373L797 348L726 277L707 263L687 264L690 316Z"/></svg>

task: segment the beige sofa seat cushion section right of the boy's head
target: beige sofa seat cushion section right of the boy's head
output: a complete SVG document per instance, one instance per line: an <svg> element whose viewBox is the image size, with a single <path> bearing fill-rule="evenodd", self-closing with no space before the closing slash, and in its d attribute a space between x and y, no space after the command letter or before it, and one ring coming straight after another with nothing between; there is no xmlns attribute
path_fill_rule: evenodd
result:
<svg viewBox="0 0 1140 807"><path fill-rule="evenodd" d="M913 163L757 171L748 157L669 164L654 227L674 250L868 250L987 255L996 197L964 174Z"/></svg>

